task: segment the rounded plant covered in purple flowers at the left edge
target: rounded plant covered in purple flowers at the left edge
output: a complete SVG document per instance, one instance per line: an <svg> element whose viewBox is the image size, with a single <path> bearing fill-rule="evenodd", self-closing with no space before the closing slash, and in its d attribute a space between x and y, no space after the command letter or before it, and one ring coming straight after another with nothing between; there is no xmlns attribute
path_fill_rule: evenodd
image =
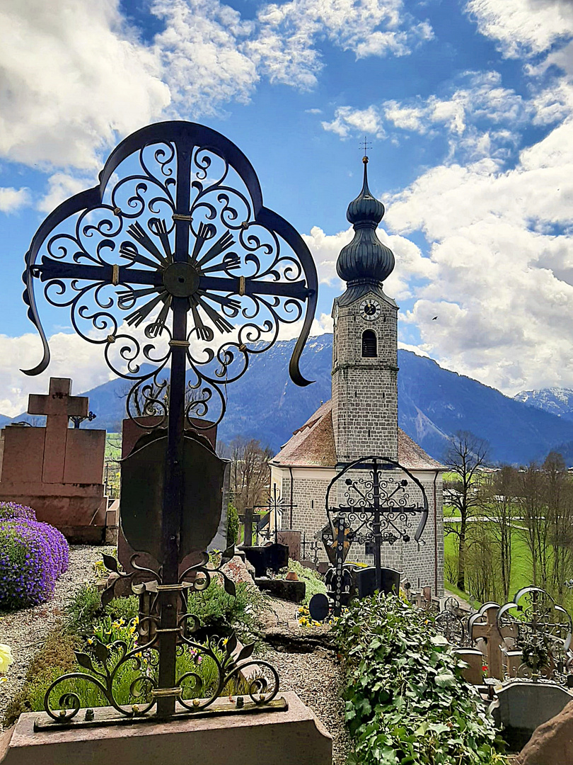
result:
<svg viewBox="0 0 573 765"><path fill-rule="evenodd" d="M31 507L0 502L0 610L47 601L69 558L66 538Z"/></svg>

